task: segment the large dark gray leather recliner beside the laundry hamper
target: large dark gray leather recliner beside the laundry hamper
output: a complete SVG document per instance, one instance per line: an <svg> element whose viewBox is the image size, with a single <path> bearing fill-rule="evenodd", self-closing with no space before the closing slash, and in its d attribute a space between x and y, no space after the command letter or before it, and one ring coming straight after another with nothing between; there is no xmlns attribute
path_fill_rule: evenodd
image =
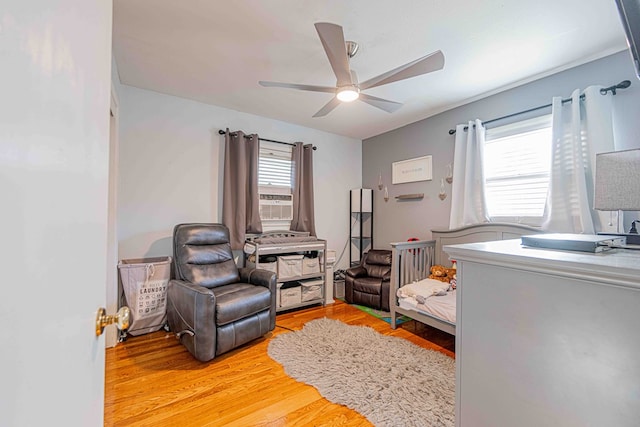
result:
<svg viewBox="0 0 640 427"><path fill-rule="evenodd" d="M206 362L275 328L276 275L237 268L223 224L178 224L167 321L180 342Z"/></svg>

